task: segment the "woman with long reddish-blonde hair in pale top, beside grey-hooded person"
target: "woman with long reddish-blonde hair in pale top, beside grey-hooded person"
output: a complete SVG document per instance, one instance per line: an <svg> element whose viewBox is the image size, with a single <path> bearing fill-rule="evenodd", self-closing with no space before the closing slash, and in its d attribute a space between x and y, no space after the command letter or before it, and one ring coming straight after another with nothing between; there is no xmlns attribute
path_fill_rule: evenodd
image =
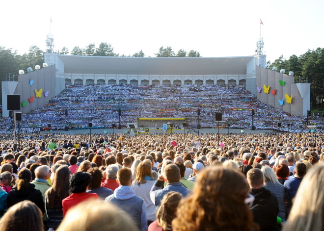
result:
<svg viewBox="0 0 324 231"><path fill-rule="evenodd" d="M152 162L149 159L140 162L137 167L136 178L132 183L136 196L142 198L146 205L147 224L156 220L156 206L150 198L150 190L155 181L152 178Z"/></svg>

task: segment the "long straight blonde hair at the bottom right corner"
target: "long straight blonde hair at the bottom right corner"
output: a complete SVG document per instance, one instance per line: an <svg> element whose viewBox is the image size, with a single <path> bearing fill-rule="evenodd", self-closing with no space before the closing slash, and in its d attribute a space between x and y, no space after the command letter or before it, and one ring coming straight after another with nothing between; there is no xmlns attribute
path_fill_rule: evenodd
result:
<svg viewBox="0 0 324 231"><path fill-rule="evenodd" d="M284 231L323 230L324 164L319 163L305 175ZM307 196L305 196L307 195Z"/></svg>

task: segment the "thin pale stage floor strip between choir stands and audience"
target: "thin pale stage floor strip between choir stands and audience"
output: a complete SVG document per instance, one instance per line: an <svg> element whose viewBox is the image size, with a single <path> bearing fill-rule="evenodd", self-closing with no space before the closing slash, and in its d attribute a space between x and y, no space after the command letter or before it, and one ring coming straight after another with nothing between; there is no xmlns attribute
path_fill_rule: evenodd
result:
<svg viewBox="0 0 324 231"><path fill-rule="evenodd" d="M196 129L195 129L196 130ZM251 129L234 129L234 128L219 128L219 133L241 133L243 130L244 133L253 133L253 134L262 134L262 133L269 133L273 132L272 130L251 130ZM124 134L128 131L127 128L122 128L122 129L114 129L115 134ZM188 129L186 129L186 134L188 134ZM90 129L72 129L68 131L51 131L51 133L55 132L60 132L60 133L65 133L65 134L81 134L81 133L90 133ZM202 133L217 133L217 128L202 128L199 129L200 134ZM41 131L41 133L50 133L50 131ZM100 128L100 129L91 129L91 133L94 134L112 134L113 129L112 128ZM173 129L173 133L184 133L184 129ZM189 133L196 134L192 130L189 131ZM163 134L162 129L150 129L150 134Z"/></svg>

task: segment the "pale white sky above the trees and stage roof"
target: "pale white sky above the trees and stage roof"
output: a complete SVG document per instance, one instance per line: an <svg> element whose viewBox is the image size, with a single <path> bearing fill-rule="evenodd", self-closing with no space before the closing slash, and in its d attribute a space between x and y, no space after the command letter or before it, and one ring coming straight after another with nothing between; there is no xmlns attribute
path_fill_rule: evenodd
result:
<svg viewBox="0 0 324 231"><path fill-rule="evenodd" d="M248 56L260 19L267 60L324 48L324 0L3 0L0 8L0 46L21 54L33 45L45 51L52 31L55 51L107 42L120 55L154 57L170 46Z"/></svg>

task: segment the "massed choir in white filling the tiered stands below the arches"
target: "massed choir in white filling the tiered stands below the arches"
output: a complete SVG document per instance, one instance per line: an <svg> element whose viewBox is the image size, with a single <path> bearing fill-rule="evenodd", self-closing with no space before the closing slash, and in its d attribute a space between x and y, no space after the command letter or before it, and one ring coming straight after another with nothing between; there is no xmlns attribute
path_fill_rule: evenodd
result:
<svg viewBox="0 0 324 231"><path fill-rule="evenodd" d="M122 127L137 122L137 118L184 117L191 128L216 126L215 113L222 113L221 126L230 128L251 127L251 110L255 110L253 125L257 129L278 129L307 132L306 117L291 116L280 109L261 103L241 85L66 85L66 89L45 104L23 115L21 129L30 132L39 128L87 128L88 122L96 128L111 128L119 124L121 109ZM68 118L65 110L68 110ZM10 119L0 121L0 132L11 128ZM281 127L277 123L281 122ZM324 128L323 117L310 117L318 132ZM139 125L140 126L140 125ZM146 125L143 125L146 127Z"/></svg>

